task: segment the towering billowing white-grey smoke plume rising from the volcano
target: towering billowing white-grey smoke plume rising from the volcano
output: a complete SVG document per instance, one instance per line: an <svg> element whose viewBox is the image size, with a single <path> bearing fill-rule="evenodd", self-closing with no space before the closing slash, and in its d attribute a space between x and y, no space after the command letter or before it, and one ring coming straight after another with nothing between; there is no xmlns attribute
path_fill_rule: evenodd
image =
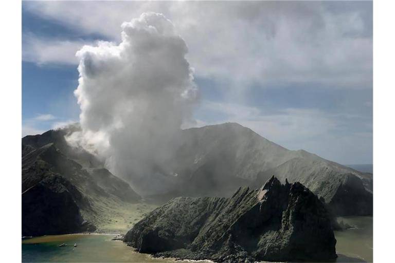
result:
<svg viewBox="0 0 395 263"><path fill-rule="evenodd" d="M143 13L122 24L119 45L98 42L77 52L85 147L140 193L166 191L177 133L197 101L187 45L163 14Z"/></svg>

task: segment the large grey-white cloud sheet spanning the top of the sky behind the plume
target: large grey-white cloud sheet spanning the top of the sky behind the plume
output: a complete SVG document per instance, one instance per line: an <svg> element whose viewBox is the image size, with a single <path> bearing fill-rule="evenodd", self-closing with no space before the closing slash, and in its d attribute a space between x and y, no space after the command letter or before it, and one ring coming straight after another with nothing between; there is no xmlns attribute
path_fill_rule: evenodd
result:
<svg viewBox="0 0 395 263"><path fill-rule="evenodd" d="M251 83L355 88L372 82L372 37L366 33L371 22L357 8L336 13L321 2L34 2L25 7L114 41L120 40L120 23L131 16L164 13L188 43L196 76L228 80L234 89Z"/></svg>

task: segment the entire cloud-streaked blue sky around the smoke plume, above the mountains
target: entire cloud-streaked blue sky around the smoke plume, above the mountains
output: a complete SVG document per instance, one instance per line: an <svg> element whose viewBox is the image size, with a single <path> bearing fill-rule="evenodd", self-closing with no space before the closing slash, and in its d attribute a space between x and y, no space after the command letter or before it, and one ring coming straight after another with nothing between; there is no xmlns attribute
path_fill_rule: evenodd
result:
<svg viewBox="0 0 395 263"><path fill-rule="evenodd" d="M188 45L194 126L239 122L286 148L372 163L371 2L23 2L23 135L78 122L76 51L118 43L120 24L146 11Z"/></svg>

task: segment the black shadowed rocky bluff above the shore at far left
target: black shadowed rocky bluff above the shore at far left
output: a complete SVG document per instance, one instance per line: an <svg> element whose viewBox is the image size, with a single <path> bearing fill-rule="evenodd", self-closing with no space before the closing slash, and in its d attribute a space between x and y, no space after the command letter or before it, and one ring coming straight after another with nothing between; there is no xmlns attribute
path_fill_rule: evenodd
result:
<svg viewBox="0 0 395 263"><path fill-rule="evenodd" d="M77 203L84 197L62 176L47 175L22 194L22 235L41 236L94 231Z"/></svg>

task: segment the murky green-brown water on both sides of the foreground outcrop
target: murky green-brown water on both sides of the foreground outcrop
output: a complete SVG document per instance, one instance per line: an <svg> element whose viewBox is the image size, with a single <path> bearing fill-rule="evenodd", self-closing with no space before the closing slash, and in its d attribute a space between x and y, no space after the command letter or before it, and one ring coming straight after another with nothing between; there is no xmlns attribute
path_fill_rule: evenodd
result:
<svg viewBox="0 0 395 263"><path fill-rule="evenodd" d="M336 253L339 256L336 262L372 262L373 218L345 217L340 220L355 228L335 231ZM175 262L172 258L152 258L148 254L134 252L133 248L122 241L111 240L114 236L115 234L73 234L23 239L22 262ZM59 247L63 242L67 246ZM77 247L74 247L75 243Z"/></svg>

